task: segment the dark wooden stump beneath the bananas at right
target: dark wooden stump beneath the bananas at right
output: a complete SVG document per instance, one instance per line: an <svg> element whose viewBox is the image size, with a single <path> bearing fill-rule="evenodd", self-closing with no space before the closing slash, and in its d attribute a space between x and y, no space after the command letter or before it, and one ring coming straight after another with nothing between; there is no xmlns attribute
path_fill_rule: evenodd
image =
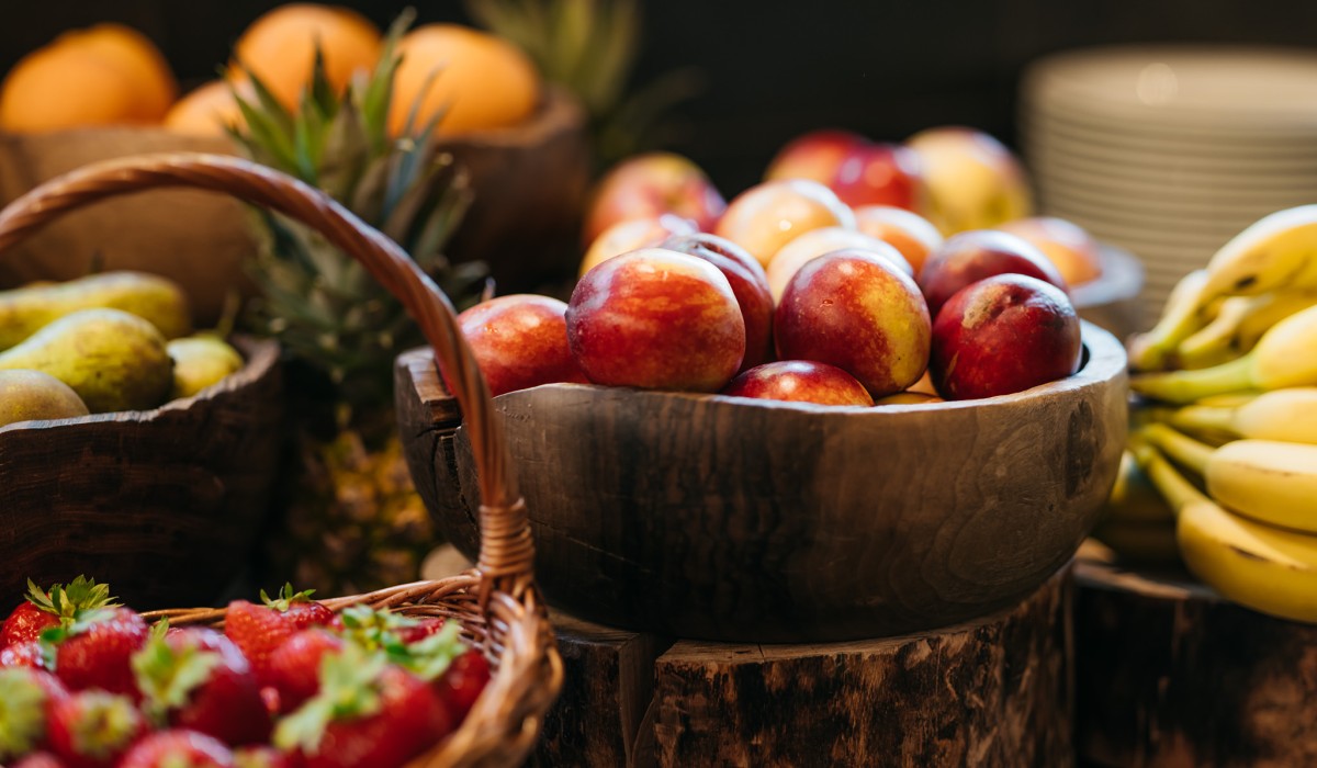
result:
<svg viewBox="0 0 1317 768"><path fill-rule="evenodd" d="M1317 627L1173 568L1076 566L1076 744L1121 768L1317 765Z"/></svg>

